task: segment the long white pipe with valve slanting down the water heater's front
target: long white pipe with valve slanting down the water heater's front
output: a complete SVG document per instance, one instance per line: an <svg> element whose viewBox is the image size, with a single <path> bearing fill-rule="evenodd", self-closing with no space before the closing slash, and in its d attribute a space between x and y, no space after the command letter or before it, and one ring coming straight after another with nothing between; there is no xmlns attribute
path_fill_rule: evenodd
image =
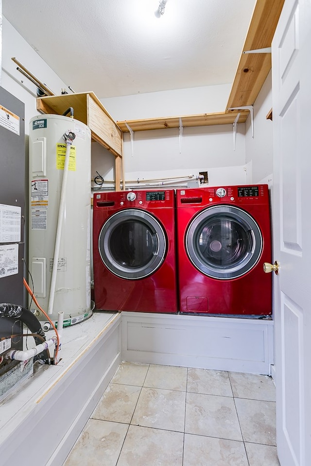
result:
<svg viewBox="0 0 311 466"><path fill-rule="evenodd" d="M70 146L71 146L72 141L74 140L75 137L76 137L76 135L72 131L67 131L63 135L63 139L65 139L65 141L66 141L67 148L66 148L66 155L65 155L65 166L64 166L64 173L63 173L62 189L61 189L60 201L59 201L59 211L58 211L58 221L57 221L55 248L54 248L54 258L53 258L53 269L52 269L52 278L51 278L48 314L52 314L52 312L53 312L54 295L55 295L55 287L56 287L56 275L57 275L58 257L59 257L59 249L60 249L60 240L61 240L61 234L62 234L64 211L65 211L66 187L67 187L69 159L70 159Z"/></svg>

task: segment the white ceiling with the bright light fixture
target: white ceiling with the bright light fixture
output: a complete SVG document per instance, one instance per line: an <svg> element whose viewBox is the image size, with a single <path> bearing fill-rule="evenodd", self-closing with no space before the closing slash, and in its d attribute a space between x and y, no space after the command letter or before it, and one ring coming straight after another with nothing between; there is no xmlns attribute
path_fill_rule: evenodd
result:
<svg viewBox="0 0 311 466"><path fill-rule="evenodd" d="M167 0L156 17L159 0L2 0L2 13L64 83L101 99L232 83L255 4Z"/></svg>

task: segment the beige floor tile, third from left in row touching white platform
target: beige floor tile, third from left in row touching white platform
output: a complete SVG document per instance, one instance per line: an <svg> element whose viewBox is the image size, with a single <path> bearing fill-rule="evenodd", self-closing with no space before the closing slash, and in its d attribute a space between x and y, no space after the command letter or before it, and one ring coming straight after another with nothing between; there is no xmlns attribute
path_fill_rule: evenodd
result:
<svg viewBox="0 0 311 466"><path fill-rule="evenodd" d="M187 391L232 397L228 372L209 369L188 369Z"/></svg>

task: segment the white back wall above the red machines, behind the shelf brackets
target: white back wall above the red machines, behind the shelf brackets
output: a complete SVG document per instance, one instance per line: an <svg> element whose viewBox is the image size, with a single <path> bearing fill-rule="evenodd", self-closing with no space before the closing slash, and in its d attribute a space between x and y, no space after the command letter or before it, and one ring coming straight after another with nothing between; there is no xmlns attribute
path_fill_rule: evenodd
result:
<svg viewBox="0 0 311 466"><path fill-rule="evenodd" d="M223 84L101 101L116 121L215 113L225 110L230 88ZM183 128L181 140L178 128L135 132L133 145L129 133L124 133L123 157L126 181L207 171L209 185L246 183L243 124L238 126L236 150L232 125L221 125ZM104 159L96 155L95 162L93 158L92 174L107 173ZM110 172L108 177L112 176Z"/></svg>

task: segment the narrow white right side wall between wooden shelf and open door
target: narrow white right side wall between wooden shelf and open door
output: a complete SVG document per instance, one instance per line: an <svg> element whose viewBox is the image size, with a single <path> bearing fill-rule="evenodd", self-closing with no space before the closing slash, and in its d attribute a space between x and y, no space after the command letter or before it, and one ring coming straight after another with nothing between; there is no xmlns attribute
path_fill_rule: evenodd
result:
<svg viewBox="0 0 311 466"><path fill-rule="evenodd" d="M245 154L250 183L271 185L273 171L272 121L266 116L272 108L271 71L254 103L254 139L250 116L245 122Z"/></svg>

